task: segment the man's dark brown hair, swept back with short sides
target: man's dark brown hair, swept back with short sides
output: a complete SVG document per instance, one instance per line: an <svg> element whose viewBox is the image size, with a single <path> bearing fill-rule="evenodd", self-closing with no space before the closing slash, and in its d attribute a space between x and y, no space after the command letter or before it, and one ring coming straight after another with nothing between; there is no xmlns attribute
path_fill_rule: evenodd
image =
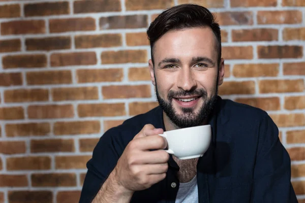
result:
<svg viewBox="0 0 305 203"><path fill-rule="evenodd" d="M215 16L205 7L195 4L182 4L163 11L147 29L151 60L154 63L154 45L166 32L192 27L210 27L217 40L218 65L221 59L220 27Z"/></svg>

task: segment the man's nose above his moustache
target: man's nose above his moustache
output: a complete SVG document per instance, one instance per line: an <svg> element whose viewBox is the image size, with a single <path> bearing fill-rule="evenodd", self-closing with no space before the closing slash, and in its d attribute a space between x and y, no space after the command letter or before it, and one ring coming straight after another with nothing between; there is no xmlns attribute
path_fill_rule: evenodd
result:
<svg viewBox="0 0 305 203"><path fill-rule="evenodd" d="M177 86L179 89L182 89L186 92L196 89L197 83L194 78L194 74L189 67L187 69L180 69L177 78Z"/></svg>

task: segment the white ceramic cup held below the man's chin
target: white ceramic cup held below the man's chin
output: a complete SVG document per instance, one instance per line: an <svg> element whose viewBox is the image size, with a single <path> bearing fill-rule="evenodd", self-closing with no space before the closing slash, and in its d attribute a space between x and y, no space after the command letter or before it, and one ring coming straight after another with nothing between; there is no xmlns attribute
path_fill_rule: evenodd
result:
<svg viewBox="0 0 305 203"><path fill-rule="evenodd" d="M167 153L178 159L191 159L203 156L210 145L211 134L210 125L200 125L165 131L159 136L167 141Z"/></svg>

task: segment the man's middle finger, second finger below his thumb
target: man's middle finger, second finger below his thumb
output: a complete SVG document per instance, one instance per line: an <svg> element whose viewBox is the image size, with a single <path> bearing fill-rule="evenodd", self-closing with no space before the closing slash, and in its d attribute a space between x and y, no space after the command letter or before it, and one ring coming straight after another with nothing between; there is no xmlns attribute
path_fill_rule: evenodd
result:
<svg viewBox="0 0 305 203"><path fill-rule="evenodd" d="M144 151L134 157L135 164L167 163L169 154L164 150Z"/></svg>

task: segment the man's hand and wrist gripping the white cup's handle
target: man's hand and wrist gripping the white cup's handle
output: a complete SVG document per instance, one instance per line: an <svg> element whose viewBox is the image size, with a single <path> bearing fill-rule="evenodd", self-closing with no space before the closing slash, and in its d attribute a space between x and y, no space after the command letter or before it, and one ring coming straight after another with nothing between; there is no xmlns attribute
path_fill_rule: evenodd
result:
<svg viewBox="0 0 305 203"><path fill-rule="evenodd" d="M145 125L118 159L113 178L126 191L147 189L166 177L169 154L158 150L167 147L166 140L158 136L161 133L163 129Z"/></svg>

